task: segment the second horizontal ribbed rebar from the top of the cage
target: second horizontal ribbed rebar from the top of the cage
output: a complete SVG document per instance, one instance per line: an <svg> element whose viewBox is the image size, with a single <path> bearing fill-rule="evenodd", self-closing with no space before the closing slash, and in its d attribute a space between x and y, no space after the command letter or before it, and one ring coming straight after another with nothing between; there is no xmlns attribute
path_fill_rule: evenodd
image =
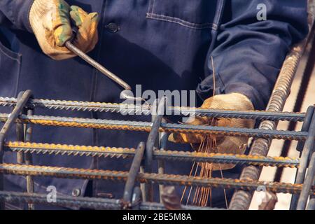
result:
<svg viewBox="0 0 315 224"><path fill-rule="evenodd" d="M0 113L0 122L8 120L8 113ZM26 116L21 115L17 119L20 123L31 123L35 125L48 125L59 127L84 127L106 130L130 130L139 132L150 132L152 123L128 121L128 120L101 120L90 118L65 118L51 116ZM307 132L283 131L283 130L260 130L235 127L216 127L202 125L181 125L162 123L160 132L180 132L195 134L221 134L235 137L257 137L266 139L289 139L305 140Z"/></svg>

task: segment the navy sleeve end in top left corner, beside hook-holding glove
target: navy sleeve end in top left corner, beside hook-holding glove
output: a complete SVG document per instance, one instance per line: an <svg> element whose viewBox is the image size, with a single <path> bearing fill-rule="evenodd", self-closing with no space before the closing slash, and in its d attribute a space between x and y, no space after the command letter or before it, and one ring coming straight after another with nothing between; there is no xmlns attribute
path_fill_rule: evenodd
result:
<svg viewBox="0 0 315 224"><path fill-rule="evenodd" d="M34 0L0 0L0 25L31 32L29 10Z"/></svg>

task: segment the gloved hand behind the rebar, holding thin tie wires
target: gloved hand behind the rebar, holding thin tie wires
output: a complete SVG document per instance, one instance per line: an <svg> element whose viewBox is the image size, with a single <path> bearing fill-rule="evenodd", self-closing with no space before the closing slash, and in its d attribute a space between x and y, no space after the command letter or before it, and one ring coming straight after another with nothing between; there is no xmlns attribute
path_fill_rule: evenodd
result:
<svg viewBox="0 0 315 224"><path fill-rule="evenodd" d="M251 101L240 93L221 94L206 99L202 104L202 109L218 109L218 110L237 110L247 111L253 110ZM188 120L187 125L209 125L209 118L197 117L193 120ZM236 119L236 118L218 118L217 125L220 127L242 127L253 128L254 120ZM182 144L193 144L193 148L197 151L200 149L200 144L204 141L206 136L202 134L182 134L173 133L169 135L169 141ZM244 145L247 143L247 137L229 137L218 136L216 144L218 151L216 153L233 153L244 154L246 148ZM206 144L202 145L203 147ZM202 150L200 150L202 151ZM235 165L214 165L214 170L219 169L232 169Z"/></svg>

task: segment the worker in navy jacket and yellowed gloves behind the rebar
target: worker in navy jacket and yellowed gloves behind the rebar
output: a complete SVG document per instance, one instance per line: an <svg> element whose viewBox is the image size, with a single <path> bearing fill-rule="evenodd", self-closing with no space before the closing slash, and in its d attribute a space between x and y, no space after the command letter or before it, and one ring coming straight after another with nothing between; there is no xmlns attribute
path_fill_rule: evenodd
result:
<svg viewBox="0 0 315 224"><path fill-rule="evenodd" d="M208 109L262 110L290 46L307 34L306 0L1 0L0 96L32 90L36 98L121 102L120 87L64 47L73 43L134 87L143 90L196 90ZM216 75L213 75L211 57ZM214 83L214 79L216 83ZM213 92L216 96L213 97ZM204 101L204 102L203 102ZM80 118L144 120L141 116L86 111L36 114ZM149 118L147 118L149 119ZM207 120L196 119L194 124ZM248 120L218 125L253 127ZM34 142L137 147L147 134L35 126ZM15 140L11 133L7 140ZM199 144L202 136L172 134L170 141ZM244 138L225 138L219 152L244 153ZM171 145L191 150L190 146ZM170 148L172 148L170 147ZM189 148L188 148L189 147ZM15 153L3 162L16 163ZM128 170L130 160L33 155L34 165ZM166 172L186 174L191 163L168 162ZM237 178L240 167L224 172ZM220 176L219 174L213 176ZM217 172L218 173L218 172ZM121 198L124 183L35 177L35 192L55 186L57 195ZM5 189L25 191L23 176L5 176ZM178 188L179 193L182 192ZM227 190L228 199L232 190ZM225 207L223 190L212 205ZM7 204L7 209L25 209ZM50 206L36 206L49 209ZM61 208L59 208L61 209Z"/></svg>

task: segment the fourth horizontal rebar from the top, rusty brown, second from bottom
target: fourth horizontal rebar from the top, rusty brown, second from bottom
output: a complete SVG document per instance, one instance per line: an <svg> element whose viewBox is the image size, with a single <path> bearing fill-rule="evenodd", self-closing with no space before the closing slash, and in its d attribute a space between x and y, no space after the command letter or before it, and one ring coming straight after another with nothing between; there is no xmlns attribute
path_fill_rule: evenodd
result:
<svg viewBox="0 0 315 224"><path fill-rule="evenodd" d="M29 175L29 176L51 176L65 179L102 179L110 181L126 181L129 172L109 171L99 169L78 169L66 167L45 167L32 165L0 164L0 172L3 174ZM254 191L264 186L266 190L274 193L300 193L302 184L277 183L266 181L251 181L238 179L205 179L198 176L181 176L170 174L139 173L137 181L140 183L162 183L165 185L198 186L207 188L225 188ZM310 195L315 194L312 186Z"/></svg>

